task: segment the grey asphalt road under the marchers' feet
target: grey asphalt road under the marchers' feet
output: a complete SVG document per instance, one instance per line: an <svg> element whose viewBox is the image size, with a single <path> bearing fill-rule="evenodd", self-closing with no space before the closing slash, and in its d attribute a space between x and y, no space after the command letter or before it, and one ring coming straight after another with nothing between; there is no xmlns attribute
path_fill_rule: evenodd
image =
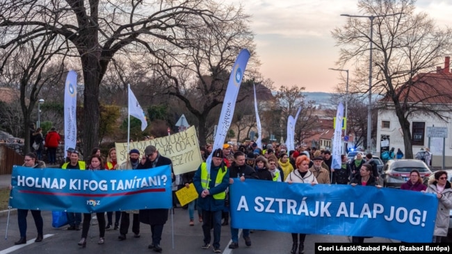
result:
<svg viewBox="0 0 452 254"><path fill-rule="evenodd" d="M98 245L99 229L97 225L90 228L88 233L88 244L86 249L82 250L77 246L77 242L81 237L81 231L67 231L64 228L51 228L51 212L42 212L45 221L45 239L43 242L35 243L36 229L33 223L33 217L29 214L26 245L14 246L14 242L19 239L19 230L17 227L17 216L10 217L7 239L0 241L0 253L80 253L87 251L88 253L154 253L149 250L147 245L150 244L151 232L150 226L140 225L141 237L131 237L129 233L127 240L118 241L118 230L106 231L105 244ZM6 235L6 223L8 217L0 217L0 235ZM170 217L171 218L171 217ZM172 223L171 219L166 223L163 232L161 246L163 253L212 253L210 250L202 250L202 229L200 223L196 221L195 226L188 226L188 212L181 208L177 208L173 218L174 225L174 242L175 248L172 248ZM222 227L221 248L223 253L239 254L239 253L289 253L291 248L291 235L283 232L261 231L256 230L251 234L252 246L245 247L243 239L240 239L239 248L234 251L227 248L230 240L230 230L228 226ZM328 235L308 235L305 241L306 253L314 253L315 242L350 242L348 237L328 236ZM366 242L391 242L389 239L371 238Z"/></svg>

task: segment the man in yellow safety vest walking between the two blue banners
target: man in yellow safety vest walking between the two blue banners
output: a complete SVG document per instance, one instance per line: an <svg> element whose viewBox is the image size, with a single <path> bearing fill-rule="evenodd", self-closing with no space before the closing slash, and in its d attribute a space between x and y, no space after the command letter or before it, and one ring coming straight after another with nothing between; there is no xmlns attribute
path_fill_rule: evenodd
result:
<svg viewBox="0 0 452 254"><path fill-rule="evenodd" d="M204 244L201 248L210 248L211 229L213 228L213 252L221 253L221 212L225 208L226 189L229 186L229 169L223 162L223 151L213 151L210 172L206 162L202 162L193 177L193 184L200 194L198 201L202 208L202 232Z"/></svg>

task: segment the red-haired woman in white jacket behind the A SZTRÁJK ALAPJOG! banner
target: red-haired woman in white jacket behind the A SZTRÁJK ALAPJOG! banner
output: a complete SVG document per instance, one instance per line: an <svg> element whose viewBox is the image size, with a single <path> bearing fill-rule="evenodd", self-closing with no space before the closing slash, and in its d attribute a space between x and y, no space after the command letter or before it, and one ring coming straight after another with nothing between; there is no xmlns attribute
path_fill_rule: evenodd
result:
<svg viewBox="0 0 452 254"><path fill-rule="evenodd" d="M309 158L306 155L298 156L295 164L296 170L289 173L286 178L286 183L309 183L316 185L317 180L312 171L309 171ZM300 242L298 242L298 235L300 236ZM298 254L305 253L305 238L306 234L292 233L292 249L291 254L295 254L298 248ZM298 243L300 246L298 246Z"/></svg>

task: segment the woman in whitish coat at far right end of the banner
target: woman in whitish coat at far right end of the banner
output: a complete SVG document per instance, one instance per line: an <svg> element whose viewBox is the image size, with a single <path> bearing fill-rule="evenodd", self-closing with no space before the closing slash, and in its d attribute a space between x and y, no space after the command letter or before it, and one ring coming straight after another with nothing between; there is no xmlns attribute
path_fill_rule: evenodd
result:
<svg viewBox="0 0 452 254"><path fill-rule="evenodd" d="M438 198L438 210L432 242L439 243L441 242L441 237L447 236L449 210L452 209L452 188L451 183L447 180L447 172L444 170L436 171L435 179L429 180L426 192L436 194Z"/></svg>

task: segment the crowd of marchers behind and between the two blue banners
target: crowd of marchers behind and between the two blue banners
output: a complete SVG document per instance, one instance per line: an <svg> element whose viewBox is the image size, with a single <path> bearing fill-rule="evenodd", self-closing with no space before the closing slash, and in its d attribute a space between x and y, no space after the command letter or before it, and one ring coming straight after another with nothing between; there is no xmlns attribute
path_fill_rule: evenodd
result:
<svg viewBox="0 0 452 254"><path fill-rule="evenodd" d="M207 144L200 148L204 162L197 171L175 176L172 173L172 182L176 178L180 187L189 188L191 183L195 186L199 198L188 204L188 225L194 225L194 210L197 207L197 215L202 222L204 234L201 248L208 249L213 246L215 253L220 253L221 226L229 225L229 193L228 187L234 180L245 181L246 179L270 180L285 182L288 184L305 183L338 184L338 185L364 185L369 187L381 187L378 185L379 173L376 162L369 153L364 158L358 154L352 162L348 162L346 155L341 155L341 167L332 168L332 155L330 151L321 151L316 148L299 147L293 151L287 151L284 145L268 144L264 149L257 147L257 143L249 142L241 146L224 144L223 149L212 151L212 146ZM210 171L208 172L205 160L211 155ZM67 150L66 162L60 164L61 169L80 170L115 170L115 169L152 169L163 165L172 165L169 158L164 157L157 151L155 146L147 146L144 155L140 151L132 149L129 151L129 160L122 164L116 162L116 151L110 149L106 160L100 154L98 148L92 149L90 158L84 162L79 160L79 152L74 149ZM45 163L38 160L35 153L27 153L24 167L43 168ZM435 178L428 183L422 184L419 171L412 170L410 179L402 185L401 189L411 191L429 192L436 194L439 206L433 242L440 242L441 237L447 235L449 229L449 210L452 208L451 183L447 180L445 171L436 171ZM175 198L173 196L173 198ZM173 202L174 204L174 202ZM130 214L132 214L132 232L134 237L140 237L140 223L150 225L152 231L152 242L148 248L161 252L160 246L163 226L168 220L168 209L148 209L126 212L107 212L107 220L104 212L96 214L99 226L98 244L104 244L105 230L114 227L119 229L119 240L126 239L130 225ZM26 243L26 215L28 210L18 209L18 223L20 239L15 244ZM113 213L115 222L113 224ZM42 217L40 211L31 210L38 237L35 242L41 242ZM86 247L86 237L90 228L91 214L68 213L69 227L67 230L81 230L79 246ZM212 230L213 229L213 230ZM213 231L213 240L212 240ZM228 248L239 248L239 228L230 228L232 243ZM243 239L246 246L251 246L250 229L243 229ZM293 245L290 253L304 253L305 234L293 233ZM352 242L362 243L365 237L353 236Z"/></svg>

